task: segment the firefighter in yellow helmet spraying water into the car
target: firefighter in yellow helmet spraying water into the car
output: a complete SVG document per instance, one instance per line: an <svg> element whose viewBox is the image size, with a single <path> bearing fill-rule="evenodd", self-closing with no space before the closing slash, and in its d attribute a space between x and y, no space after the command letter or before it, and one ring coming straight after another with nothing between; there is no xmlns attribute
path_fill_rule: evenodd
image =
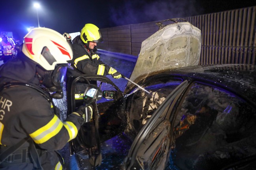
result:
<svg viewBox="0 0 256 170"><path fill-rule="evenodd" d="M90 75L112 75L113 78L121 78L121 74L106 65L96 54L97 43L102 42L99 28L94 24L85 24L81 34L73 39L73 59L72 65L77 74Z"/></svg>

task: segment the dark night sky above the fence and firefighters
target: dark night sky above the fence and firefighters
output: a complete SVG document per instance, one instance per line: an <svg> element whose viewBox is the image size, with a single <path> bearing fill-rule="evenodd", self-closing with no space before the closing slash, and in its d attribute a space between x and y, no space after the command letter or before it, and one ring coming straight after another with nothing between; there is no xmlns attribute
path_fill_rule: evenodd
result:
<svg viewBox="0 0 256 170"><path fill-rule="evenodd" d="M256 6L256 0L2 0L0 31L22 40L30 26L79 32L86 23L99 28L189 17Z"/></svg>

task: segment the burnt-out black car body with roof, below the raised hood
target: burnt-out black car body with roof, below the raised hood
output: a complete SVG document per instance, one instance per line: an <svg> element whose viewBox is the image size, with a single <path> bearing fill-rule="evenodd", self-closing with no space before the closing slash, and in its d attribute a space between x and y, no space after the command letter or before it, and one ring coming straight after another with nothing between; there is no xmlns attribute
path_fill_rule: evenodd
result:
<svg viewBox="0 0 256 170"><path fill-rule="evenodd" d="M140 130L126 169L164 169L169 157L170 169L256 167L255 80L255 65L190 66L146 78L152 95L134 93L129 102L148 105L135 106L140 118L130 115Z"/></svg>

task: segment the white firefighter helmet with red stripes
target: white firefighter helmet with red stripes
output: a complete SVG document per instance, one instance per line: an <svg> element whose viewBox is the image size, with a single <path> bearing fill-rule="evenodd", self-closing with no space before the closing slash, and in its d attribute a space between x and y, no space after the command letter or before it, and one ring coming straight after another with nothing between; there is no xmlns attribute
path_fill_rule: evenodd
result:
<svg viewBox="0 0 256 170"><path fill-rule="evenodd" d="M56 64L68 63L73 58L67 40L55 30L42 27L25 35L22 52L46 70L54 70Z"/></svg>

